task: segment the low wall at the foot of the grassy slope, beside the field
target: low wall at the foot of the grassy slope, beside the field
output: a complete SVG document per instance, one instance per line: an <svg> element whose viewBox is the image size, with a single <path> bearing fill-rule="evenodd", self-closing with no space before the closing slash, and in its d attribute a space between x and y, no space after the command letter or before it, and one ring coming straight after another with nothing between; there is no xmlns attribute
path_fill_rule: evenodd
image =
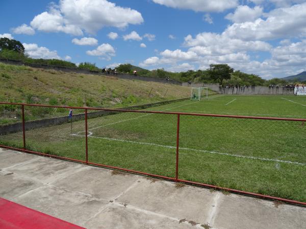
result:
<svg viewBox="0 0 306 229"><path fill-rule="evenodd" d="M161 106L161 105L168 104L168 103L173 103L173 102L180 102L180 101L184 101L184 100L187 100L187 99L189 99L189 98L162 101L162 102L157 102L157 103L149 103L149 104L144 104L144 105L129 106L129 107L123 107L123 108L120 108L120 109L139 110L139 109L145 109L145 108L154 107L154 106ZM120 111L118 111L118 112L120 112ZM107 110L99 110L99 111L88 112L87 117L89 119L92 119L92 118L101 117L101 116L114 115L115 113L118 113L118 112L107 111ZM74 121L79 121L79 120L84 120L84 119L85 119L85 113L80 113L78 115L73 115L73 122ZM33 130L33 129L42 128L42 127L61 125L61 124L68 123L68 122L70 122L70 119L68 118L68 116L42 119L42 120L35 120L35 121L25 122L24 123L24 129L25 130ZM6 134L16 133L16 132L20 132L20 131L22 131L22 123L14 123L14 124L8 124L8 125L0 126L0 135L6 135Z"/></svg>

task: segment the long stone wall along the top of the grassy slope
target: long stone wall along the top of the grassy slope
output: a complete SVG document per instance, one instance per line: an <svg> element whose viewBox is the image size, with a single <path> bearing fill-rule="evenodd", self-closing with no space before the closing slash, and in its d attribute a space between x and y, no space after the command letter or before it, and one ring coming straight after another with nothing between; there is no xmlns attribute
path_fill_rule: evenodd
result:
<svg viewBox="0 0 306 229"><path fill-rule="evenodd" d="M138 75L129 75L129 74L117 74L117 75L106 75L101 72L97 71L90 71L87 69L78 69L78 68L67 68L67 67L57 67L57 66L49 66L49 65L41 65L41 64L24 64L21 61L7 61L7 60L0 60L0 62L10 65L25 65L30 66L32 68L41 68L46 70L56 70L68 73L79 73L85 75L103 75L103 76L113 76L120 79L130 79L130 80L142 80L147 82L160 82L160 83L170 83L176 85L182 85L182 82L175 81L175 80L166 80L164 78L155 78L155 77L145 77L145 76L138 76Z"/></svg>

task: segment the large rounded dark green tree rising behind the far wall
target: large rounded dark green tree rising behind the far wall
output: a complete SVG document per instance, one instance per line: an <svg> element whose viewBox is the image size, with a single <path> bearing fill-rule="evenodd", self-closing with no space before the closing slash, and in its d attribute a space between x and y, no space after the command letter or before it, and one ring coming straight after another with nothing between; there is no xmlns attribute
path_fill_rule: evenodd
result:
<svg viewBox="0 0 306 229"><path fill-rule="evenodd" d="M222 84L224 79L230 79L231 74L234 72L234 69L228 66L227 64L218 64L214 65L211 64L210 68L208 69L208 73L216 82Z"/></svg>

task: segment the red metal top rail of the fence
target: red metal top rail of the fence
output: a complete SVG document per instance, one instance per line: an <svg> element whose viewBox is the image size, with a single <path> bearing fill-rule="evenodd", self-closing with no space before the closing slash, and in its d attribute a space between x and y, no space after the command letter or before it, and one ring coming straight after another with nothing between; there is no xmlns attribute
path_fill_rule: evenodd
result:
<svg viewBox="0 0 306 229"><path fill-rule="evenodd" d="M9 105L24 105L24 106L42 106L42 107L57 107L57 108L70 108L70 109L84 109L84 107L75 106L51 106L51 105L41 105L41 104L27 104L27 103L7 103L0 102L0 104ZM207 117L222 117L222 118L235 118L235 119L261 119L261 120L278 120L278 121L296 121L296 122L306 122L306 119L288 119L288 118L271 118L271 117L255 117L255 116L228 116L228 115L213 115L209 113L185 113L185 112L164 112L164 111L148 111L148 110L124 110L124 109L107 109L107 108L95 108L86 107L87 110L105 110L114 112L135 112L135 113L164 113L167 115L186 115L186 116L207 116Z"/></svg>

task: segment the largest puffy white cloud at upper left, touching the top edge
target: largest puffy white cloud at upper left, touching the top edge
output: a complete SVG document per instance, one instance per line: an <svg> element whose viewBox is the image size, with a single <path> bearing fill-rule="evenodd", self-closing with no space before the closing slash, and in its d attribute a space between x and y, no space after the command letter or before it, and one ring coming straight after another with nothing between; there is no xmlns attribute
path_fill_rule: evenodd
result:
<svg viewBox="0 0 306 229"><path fill-rule="evenodd" d="M107 0L60 0L48 12L35 16L31 26L43 32L81 36L83 31L95 34L106 26L124 28L142 22L138 11L116 6Z"/></svg>

